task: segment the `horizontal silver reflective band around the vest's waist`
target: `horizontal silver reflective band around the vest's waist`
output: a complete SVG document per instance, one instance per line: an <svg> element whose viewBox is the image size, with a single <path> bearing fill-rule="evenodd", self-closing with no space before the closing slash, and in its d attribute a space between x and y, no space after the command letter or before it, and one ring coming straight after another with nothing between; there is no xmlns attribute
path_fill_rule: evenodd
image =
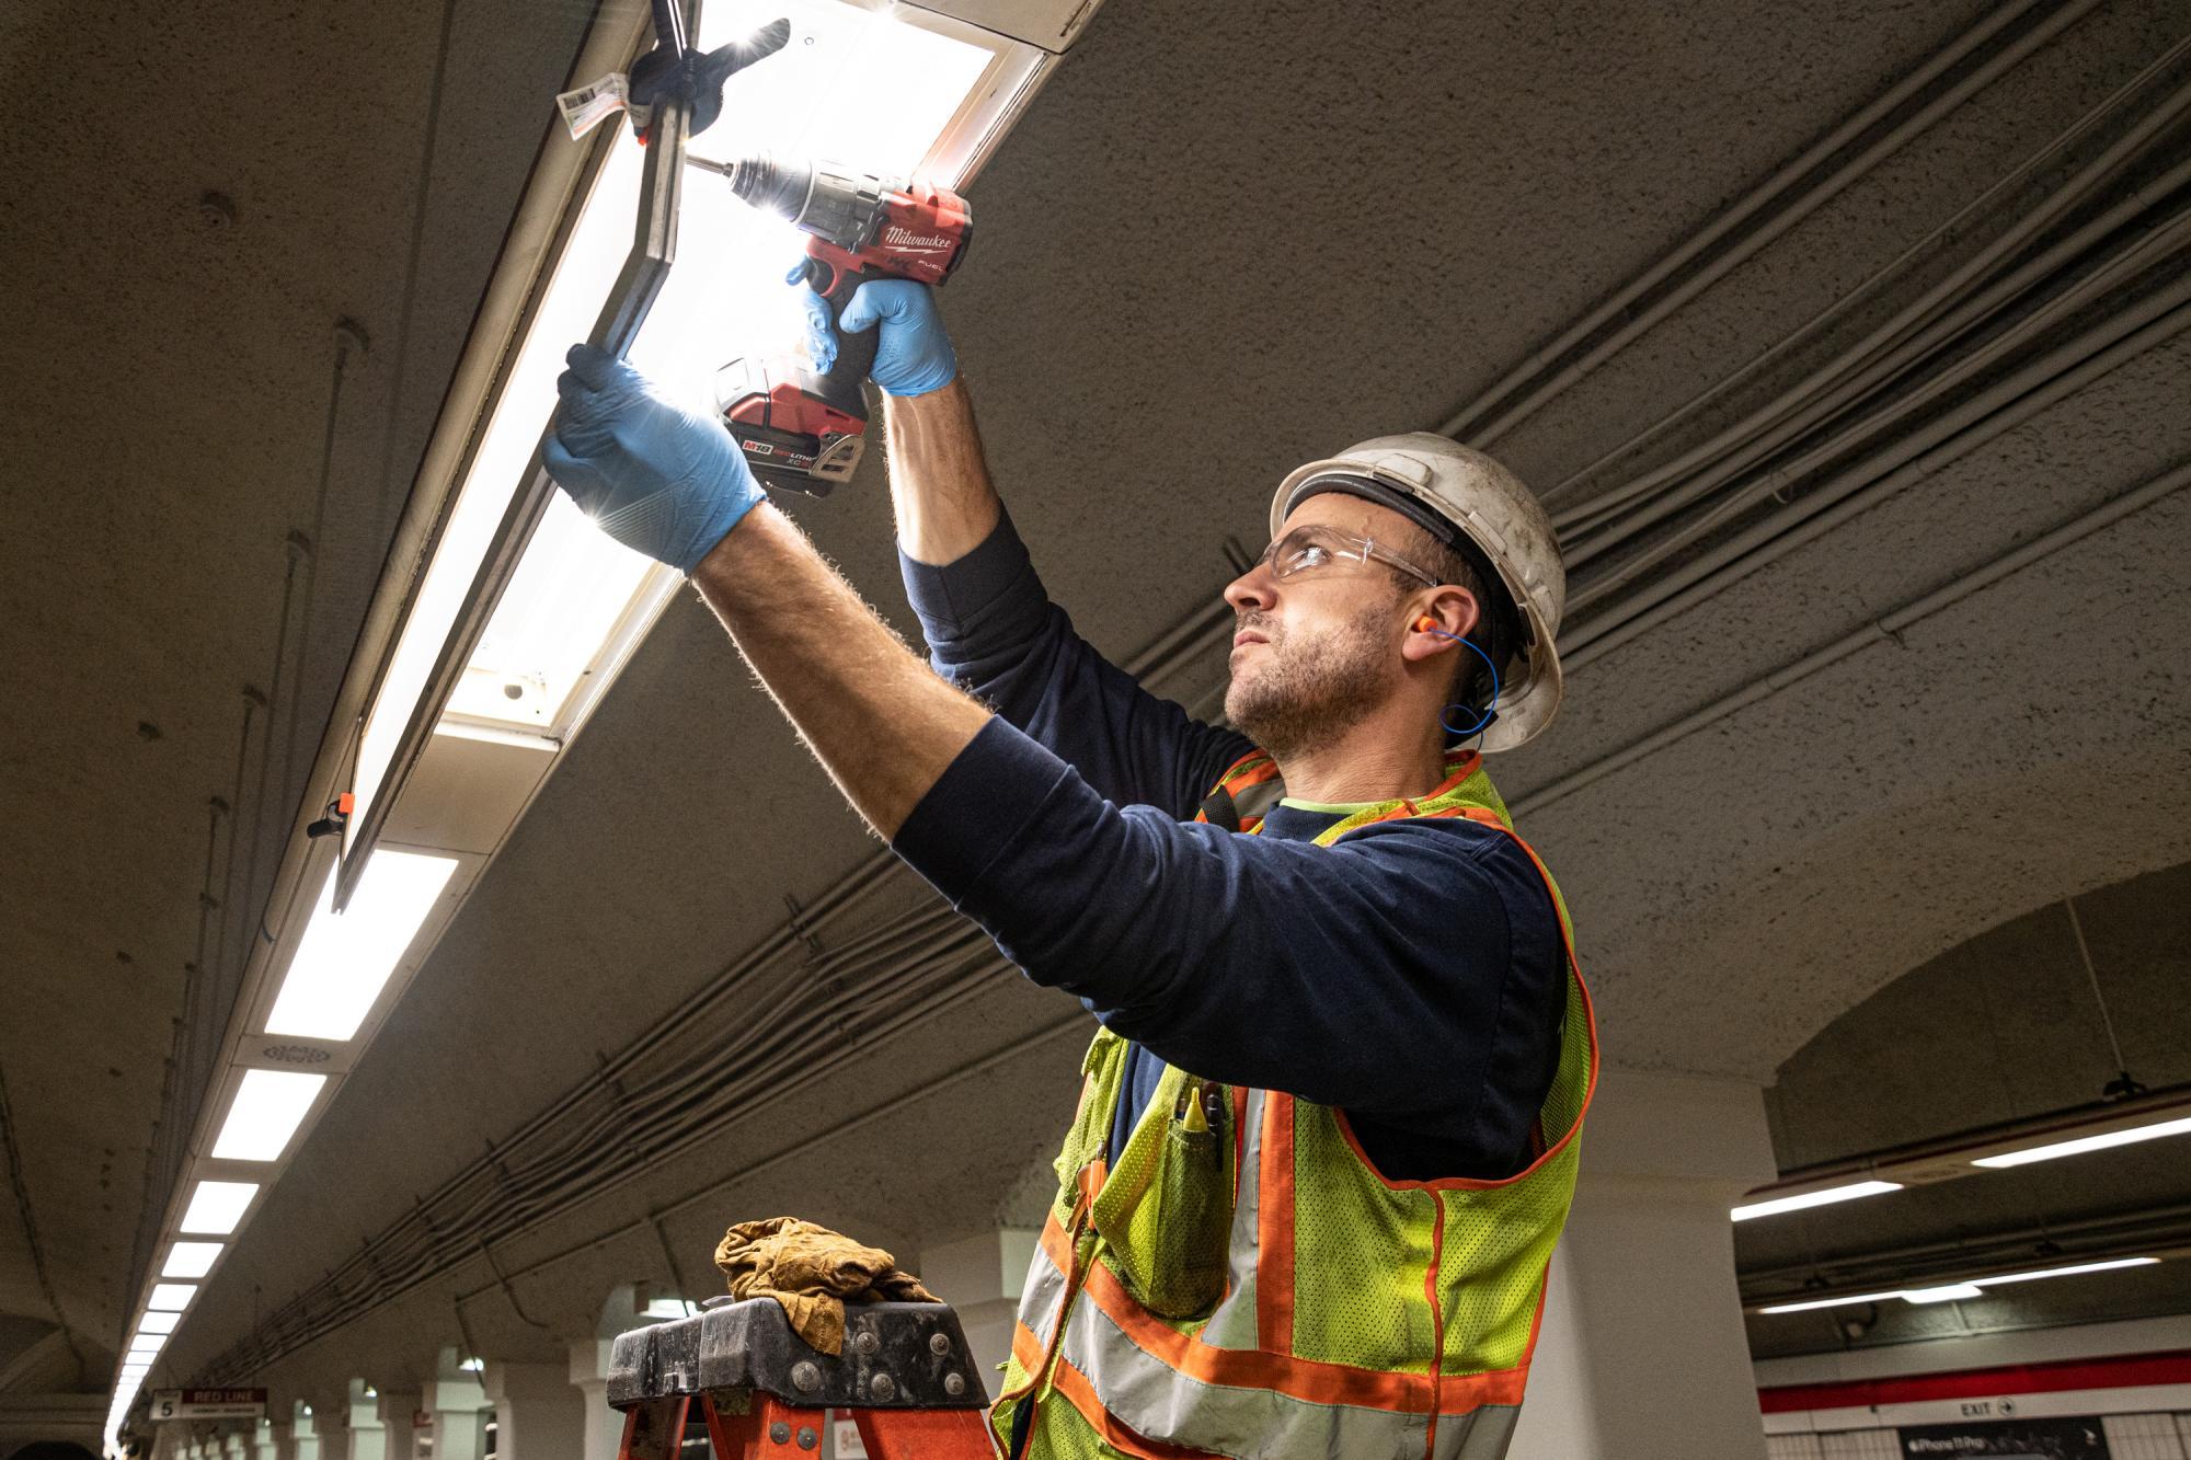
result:
<svg viewBox="0 0 2191 1460"><path fill-rule="evenodd" d="M1096 1399L1137 1434L1236 1460L1422 1460L1429 1416L1358 1405L1319 1405L1277 1390L1203 1383L1144 1353L1096 1302L1076 1302L1065 1320L1065 1361L1087 1375ZM1448 1425L1466 1442L1470 1416L1437 1423L1442 1460L1499 1456L1496 1449L1446 1449Z"/></svg>

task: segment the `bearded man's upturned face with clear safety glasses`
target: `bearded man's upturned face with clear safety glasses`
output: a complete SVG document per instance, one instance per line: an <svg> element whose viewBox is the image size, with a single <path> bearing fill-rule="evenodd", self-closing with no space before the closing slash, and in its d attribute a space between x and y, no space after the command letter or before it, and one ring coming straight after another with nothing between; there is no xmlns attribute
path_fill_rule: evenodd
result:
<svg viewBox="0 0 2191 1460"><path fill-rule="evenodd" d="M1404 552L1409 522L1337 491L1308 498L1286 533L1326 526ZM1402 682L1407 592L1383 563L1337 561L1280 581L1249 568L1225 590L1234 607L1225 715L1275 756L1328 741L1378 708Z"/></svg>

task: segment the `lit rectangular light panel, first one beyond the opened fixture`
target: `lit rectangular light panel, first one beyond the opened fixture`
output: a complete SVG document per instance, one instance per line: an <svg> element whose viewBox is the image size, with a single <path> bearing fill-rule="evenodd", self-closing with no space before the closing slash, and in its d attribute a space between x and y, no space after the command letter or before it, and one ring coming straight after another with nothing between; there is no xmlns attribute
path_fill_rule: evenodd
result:
<svg viewBox="0 0 2191 1460"><path fill-rule="evenodd" d="M379 848L357 879L348 910L337 914L337 868L329 868L305 940L267 1015L267 1033L305 1039L355 1035L454 870L456 857Z"/></svg>

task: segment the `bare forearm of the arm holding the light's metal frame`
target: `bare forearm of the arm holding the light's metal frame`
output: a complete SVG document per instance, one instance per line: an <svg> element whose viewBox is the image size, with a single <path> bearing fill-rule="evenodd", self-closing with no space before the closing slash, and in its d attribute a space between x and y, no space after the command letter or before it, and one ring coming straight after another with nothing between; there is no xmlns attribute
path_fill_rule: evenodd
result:
<svg viewBox="0 0 2191 1460"><path fill-rule="evenodd" d="M936 677L767 502L692 583L883 840L988 723L988 710Z"/></svg>

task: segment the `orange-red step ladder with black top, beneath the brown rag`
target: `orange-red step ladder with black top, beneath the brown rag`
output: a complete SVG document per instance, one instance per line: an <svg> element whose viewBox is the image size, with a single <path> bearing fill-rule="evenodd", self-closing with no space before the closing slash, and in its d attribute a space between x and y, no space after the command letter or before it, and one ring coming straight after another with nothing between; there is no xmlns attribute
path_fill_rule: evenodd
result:
<svg viewBox="0 0 2191 1460"><path fill-rule="evenodd" d="M692 1405L714 1460L819 1456L830 1410L859 1425L872 1460L988 1460L988 1403L957 1313L944 1302L850 1304L844 1353L808 1348L773 1298L714 1304L620 1333L609 1403L624 1412L618 1460L684 1460Z"/></svg>

